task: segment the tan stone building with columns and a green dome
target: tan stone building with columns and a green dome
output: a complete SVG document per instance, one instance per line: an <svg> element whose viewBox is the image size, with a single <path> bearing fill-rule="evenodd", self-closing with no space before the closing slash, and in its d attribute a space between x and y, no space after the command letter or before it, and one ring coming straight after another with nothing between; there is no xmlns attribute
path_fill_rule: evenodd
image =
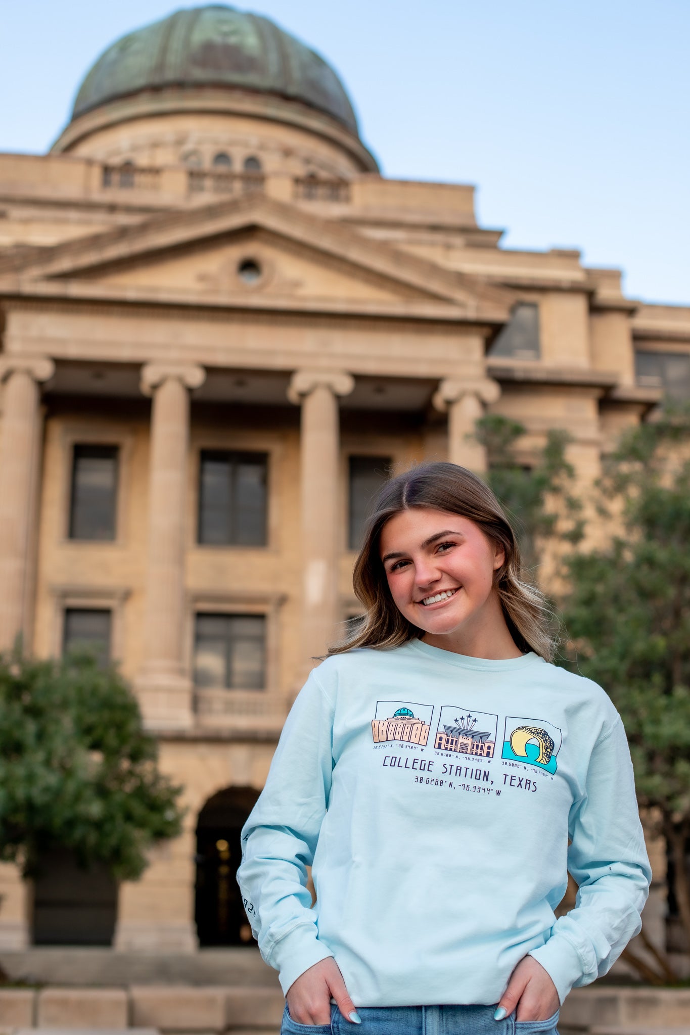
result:
<svg viewBox="0 0 690 1035"><path fill-rule="evenodd" d="M500 242L471 186L381 176L318 55L217 5L118 40L50 153L0 155L0 647L116 659L188 806L139 883L2 867L1 947L246 941L238 831L357 613L386 470L481 471L488 408L526 464L566 428L590 479L690 394L690 307Z"/></svg>

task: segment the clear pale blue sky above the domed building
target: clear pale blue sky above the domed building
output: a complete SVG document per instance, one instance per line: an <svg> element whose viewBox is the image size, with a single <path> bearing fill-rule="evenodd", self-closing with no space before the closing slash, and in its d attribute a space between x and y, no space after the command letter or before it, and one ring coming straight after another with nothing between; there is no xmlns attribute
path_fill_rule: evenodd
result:
<svg viewBox="0 0 690 1035"><path fill-rule="evenodd" d="M181 5L4 0L0 150L46 151L97 55ZM331 61L387 176L474 183L508 247L580 247L690 304L689 0L248 6Z"/></svg>

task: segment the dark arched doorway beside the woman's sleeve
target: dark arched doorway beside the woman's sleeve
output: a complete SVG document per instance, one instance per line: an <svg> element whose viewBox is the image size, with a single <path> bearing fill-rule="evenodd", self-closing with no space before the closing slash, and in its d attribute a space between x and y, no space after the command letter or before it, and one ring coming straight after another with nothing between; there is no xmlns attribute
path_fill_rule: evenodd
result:
<svg viewBox="0 0 690 1035"><path fill-rule="evenodd" d="M242 851L240 832L259 792L230 787L206 802L197 824L196 919L199 944L253 945L237 867Z"/></svg>

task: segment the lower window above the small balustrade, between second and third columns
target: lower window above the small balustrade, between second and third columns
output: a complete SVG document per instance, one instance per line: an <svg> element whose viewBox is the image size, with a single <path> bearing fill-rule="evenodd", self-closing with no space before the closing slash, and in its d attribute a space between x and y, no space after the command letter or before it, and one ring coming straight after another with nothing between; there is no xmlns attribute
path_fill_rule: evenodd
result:
<svg viewBox="0 0 690 1035"><path fill-rule="evenodd" d="M200 687L263 690L264 615L197 615L194 683Z"/></svg>

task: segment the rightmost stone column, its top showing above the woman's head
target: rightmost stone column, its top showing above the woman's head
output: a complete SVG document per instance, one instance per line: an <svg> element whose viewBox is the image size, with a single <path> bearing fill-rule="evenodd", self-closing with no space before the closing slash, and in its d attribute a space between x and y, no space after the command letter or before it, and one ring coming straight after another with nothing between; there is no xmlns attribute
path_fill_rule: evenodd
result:
<svg viewBox="0 0 690 1035"><path fill-rule="evenodd" d="M474 437L475 424L484 407L496 403L501 386L491 378L472 381L446 379L439 385L433 406L448 414L448 460L476 474L486 470L486 449Z"/></svg>

